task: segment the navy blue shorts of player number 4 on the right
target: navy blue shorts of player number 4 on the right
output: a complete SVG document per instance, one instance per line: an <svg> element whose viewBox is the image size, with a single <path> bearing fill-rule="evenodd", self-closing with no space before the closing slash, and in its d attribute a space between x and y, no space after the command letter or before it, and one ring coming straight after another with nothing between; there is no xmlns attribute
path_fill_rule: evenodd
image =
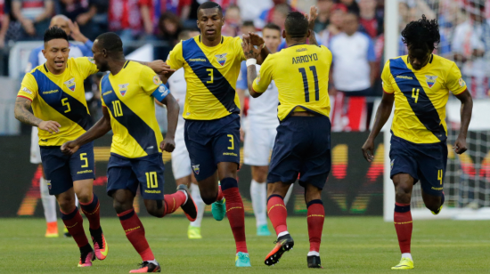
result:
<svg viewBox="0 0 490 274"><path fill-rule="evenodd" d="M392 135L390 177L398 173L407 173L415 180L421 181L425 193L442 196L447 164L447 145L445 141L418 144Z"/></svg>

